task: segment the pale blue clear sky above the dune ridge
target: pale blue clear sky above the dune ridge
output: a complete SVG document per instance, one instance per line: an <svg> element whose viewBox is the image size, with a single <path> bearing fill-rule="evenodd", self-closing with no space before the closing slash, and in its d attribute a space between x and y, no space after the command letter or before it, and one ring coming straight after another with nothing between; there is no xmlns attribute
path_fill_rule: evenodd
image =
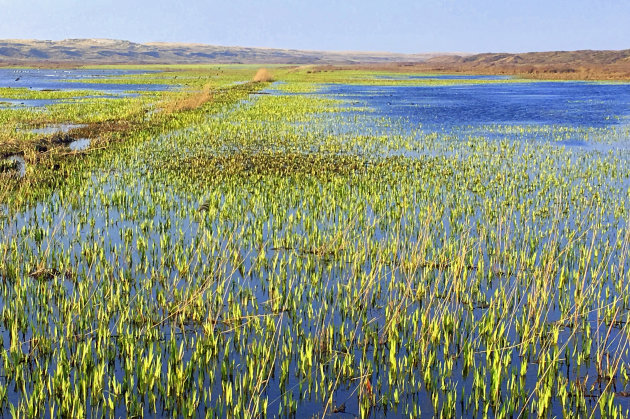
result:
<svg viewBox="0 0 630 419"><path fill-rule="evenodd" d="M311 50L630 48L630 0L0 0L0 39Z"/></svg>

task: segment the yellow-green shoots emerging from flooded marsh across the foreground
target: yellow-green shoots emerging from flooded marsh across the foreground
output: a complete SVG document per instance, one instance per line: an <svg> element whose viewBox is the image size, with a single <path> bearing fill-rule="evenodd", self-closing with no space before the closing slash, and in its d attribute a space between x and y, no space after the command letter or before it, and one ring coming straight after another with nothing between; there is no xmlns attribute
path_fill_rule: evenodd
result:
<svg viewBox="0 0 630 419"><path fill-rule="evenodd" d="M3 412L630 413L627 126L427 132L255 71L0 109Z"/></svg>

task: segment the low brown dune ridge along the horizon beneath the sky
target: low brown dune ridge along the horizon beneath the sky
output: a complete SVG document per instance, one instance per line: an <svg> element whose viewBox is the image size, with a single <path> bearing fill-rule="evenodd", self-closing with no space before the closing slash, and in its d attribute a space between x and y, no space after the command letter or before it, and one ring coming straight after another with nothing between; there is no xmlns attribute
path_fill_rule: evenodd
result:
<svg viewBox="0 0 630 419"><path fill-rule="evenodd" d="M508 53L327 52L114 39L0 40L0 65L315 64L392 71L513 74L534 78L630 80L630 49Z"/></svg>

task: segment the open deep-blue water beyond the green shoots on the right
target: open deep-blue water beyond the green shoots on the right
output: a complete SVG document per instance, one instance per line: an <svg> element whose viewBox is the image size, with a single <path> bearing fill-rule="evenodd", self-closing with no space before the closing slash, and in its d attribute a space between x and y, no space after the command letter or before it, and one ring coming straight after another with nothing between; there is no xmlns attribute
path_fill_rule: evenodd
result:
<svg viewBox="0 0 630 419"><path fill-rule="evenodd" d="M449 132L488 126L603 128L630 123L630 85L587 82L449 86L327 85L322 94L368 107L375 118Z"/></svg>

